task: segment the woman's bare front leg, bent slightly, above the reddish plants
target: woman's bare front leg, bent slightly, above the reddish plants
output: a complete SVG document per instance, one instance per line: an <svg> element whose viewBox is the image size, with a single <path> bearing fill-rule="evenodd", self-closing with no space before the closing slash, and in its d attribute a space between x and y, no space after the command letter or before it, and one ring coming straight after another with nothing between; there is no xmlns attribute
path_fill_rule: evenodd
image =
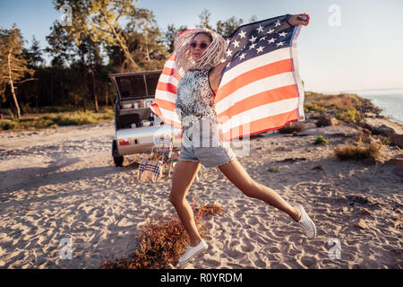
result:
<svg viewBox="0 0 403 287"><path fill-rule="evenodd" d="M191 246L198 245L201 236L194 222L192 207L186 200L186 194L199 169L199 161L178 161L172 179L171 194L169 195L169 201L174 204L176 213L189 235Z"/></svg>

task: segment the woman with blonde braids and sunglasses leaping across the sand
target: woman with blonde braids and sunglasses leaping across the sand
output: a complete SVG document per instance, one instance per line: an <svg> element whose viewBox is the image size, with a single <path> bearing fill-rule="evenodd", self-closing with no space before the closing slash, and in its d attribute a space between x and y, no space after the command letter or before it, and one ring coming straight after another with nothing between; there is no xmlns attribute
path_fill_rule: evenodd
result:
<svg viewBox="0 0 403 287"><path fill-rule="evenodd" d="M304 16L306 20L298 16ZM290 26L306 26L308 23L308 14L296 14L276 31ZM201 239L194 222L193 210L186 200L186 194L201 163L206 168L218 167L245 196L260 199L287 213L309 238L313 238L316 228L305 213L304 207L300 204L288 204L270 187L254 181L236 160L229 144L223 141L213 106L213 91L218 90L221 73L228 63L221 62L226 50L223 37L212 30L191 30L180 35L175 46L177 69L183 68L185 72L177 85L176 96L176 112L184 129L182 149L175 167L169 201L174 204L190 239L190 245L178 263L189 262L208 247ZM210 145L206 146L206 142Z"/></svg>

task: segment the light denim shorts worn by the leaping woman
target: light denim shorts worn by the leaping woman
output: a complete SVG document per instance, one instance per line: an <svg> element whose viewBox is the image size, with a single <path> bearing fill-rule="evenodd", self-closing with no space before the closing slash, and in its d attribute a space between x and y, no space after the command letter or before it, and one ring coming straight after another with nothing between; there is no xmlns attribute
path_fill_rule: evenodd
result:
<svg viewBox="0 0 403 287"><path fill-rule="evenodd" d="M182 140L179 161L200 161L205 168L213 168L236 158L229 143L222 140L216 125L210 124L210 131L184 127Z"/></svg>

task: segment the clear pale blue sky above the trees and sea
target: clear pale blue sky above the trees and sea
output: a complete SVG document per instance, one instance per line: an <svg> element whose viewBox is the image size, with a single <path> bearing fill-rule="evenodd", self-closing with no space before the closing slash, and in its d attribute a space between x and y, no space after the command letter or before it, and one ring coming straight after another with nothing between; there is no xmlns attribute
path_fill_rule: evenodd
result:
<svg viewBox="0 0 403 287"><path fill-rule="evenodd" d="M232 16L248 22L286 13L309 13L298 39L301 78L307 91L403 88L403 0L140 0L161 30L173 23L193 28L203 9L211 23ZM0 0L0 27L13 22L24 39L42 48L58 13L51 0Z"/></svg>

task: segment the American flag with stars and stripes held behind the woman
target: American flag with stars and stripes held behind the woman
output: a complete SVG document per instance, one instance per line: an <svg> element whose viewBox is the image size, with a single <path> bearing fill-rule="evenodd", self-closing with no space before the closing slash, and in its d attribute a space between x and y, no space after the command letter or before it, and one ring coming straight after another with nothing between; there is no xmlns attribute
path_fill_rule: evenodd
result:
<svg viewBox="0 0 403 287"><path fill-rule="evenodd" d="M304 120L304 89L298 72L296 39L301 26L274 32L289 14L239 27L227 37L225 67L214 98L221 130L232 141ZM181 127L175 115L175 55L159 79L154 113Z"/></svg>

